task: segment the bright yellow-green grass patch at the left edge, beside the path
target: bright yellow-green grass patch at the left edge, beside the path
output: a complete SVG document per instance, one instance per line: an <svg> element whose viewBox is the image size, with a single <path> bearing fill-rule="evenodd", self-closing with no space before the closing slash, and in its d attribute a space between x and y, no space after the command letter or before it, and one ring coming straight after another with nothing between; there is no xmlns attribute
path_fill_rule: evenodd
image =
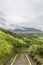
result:
<svg viewBox="0 0 43 65"><path fill-rule="evenodd" d="M4 32L0 31L0 65L4 65L12 53L13 45L6 41L8 37Z"/></svg>

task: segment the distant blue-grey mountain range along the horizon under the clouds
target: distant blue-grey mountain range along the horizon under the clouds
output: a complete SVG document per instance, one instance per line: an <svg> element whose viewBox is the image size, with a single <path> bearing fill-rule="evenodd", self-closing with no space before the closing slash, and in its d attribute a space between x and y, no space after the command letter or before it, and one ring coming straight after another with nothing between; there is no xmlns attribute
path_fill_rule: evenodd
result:
<svg viewBox="0 0 43 65"><path fill-rule="evenodd" d="M28 28L28 27L17 27L15 29L9 29L12 32L42 32L40 29Z"/></svg>

